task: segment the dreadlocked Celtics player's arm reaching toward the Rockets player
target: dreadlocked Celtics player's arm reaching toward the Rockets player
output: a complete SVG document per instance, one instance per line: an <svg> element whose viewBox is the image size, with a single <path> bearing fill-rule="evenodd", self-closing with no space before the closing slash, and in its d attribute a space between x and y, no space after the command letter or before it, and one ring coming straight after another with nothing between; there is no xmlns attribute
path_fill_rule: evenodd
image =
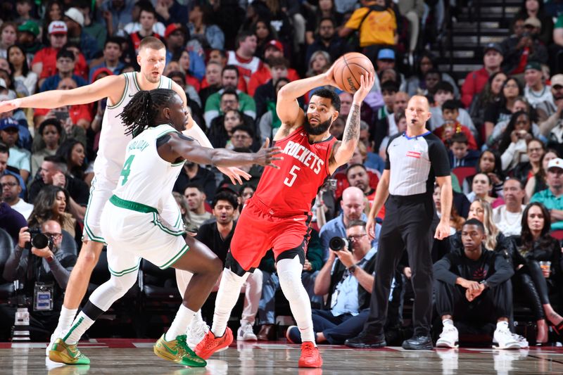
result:
<svg viewBox="0 0 563 375"><path fill-rule="evenodd" d="M193 139L181 133L166 134L167 139L163 146L158 148L158 153L165 160L174 161L177 158L191 160L198 164L212 164L218 167L235 167L237 165L264 165L265 167L275 167L274 161L282 160L275 157L281 153L279 147L268 147L270 139L267 139L264 146L256 153L237 153L225 148L206 148L199 146Z"/></svg>

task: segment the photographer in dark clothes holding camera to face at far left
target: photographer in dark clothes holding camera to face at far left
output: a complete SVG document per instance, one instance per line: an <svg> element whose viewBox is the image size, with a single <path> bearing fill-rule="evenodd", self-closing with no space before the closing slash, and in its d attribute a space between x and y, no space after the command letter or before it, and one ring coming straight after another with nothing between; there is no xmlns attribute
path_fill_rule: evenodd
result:
<svg viewBox="0 0 563 375"><path fill-rule="evenodd" d="M76 255L59 250L63 235L58 222L48 220L42 225L41 234L37 232L28 227L20 230L18 245L4 267L2 277L8 281L18 279L23 283L23 296L18 295L18 306L0 305L0 319L4 322L0 329L1 341L9 338L8 330L14 321L17 307L29 309L33 341L48 339L58 322L63 293L70 270L75 265ZM48 239L48 246L32 246L31 243L39 246L38 237L42 235Z"/></svg>

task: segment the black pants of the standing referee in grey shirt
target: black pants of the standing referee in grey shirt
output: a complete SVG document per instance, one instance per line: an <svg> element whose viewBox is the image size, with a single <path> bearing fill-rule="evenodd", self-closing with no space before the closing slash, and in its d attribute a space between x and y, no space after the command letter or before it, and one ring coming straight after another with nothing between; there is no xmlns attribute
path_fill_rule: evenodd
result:
<svg viewBox="0 0 563 375"><path fill-rule="evenodd" d="M366 333L384 333L391 280L406 248L412 270L410 282L415 292L412 310L415 336L429 335L432 319L431 248L434 238L431 224L435 215L434 201L430 194L389 196L387 199L385 219L379 235L369 317L364 326Z"/></svg>

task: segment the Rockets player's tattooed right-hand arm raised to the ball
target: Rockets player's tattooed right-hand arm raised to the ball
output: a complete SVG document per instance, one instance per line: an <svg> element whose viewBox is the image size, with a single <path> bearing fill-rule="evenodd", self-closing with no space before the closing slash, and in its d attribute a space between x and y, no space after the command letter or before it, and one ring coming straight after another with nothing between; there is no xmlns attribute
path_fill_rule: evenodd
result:
<svg viewBox="0 0 563 375"><path fill-rule="evenodd" d="M368 77L362 76L360 89L354 94L352 108L350 109L350 114L348 114L348 120L346 120L342 141L336 143L334 148L332 148L332 156L329 163L329 172L331 174L334 173L336 168L348 163L348 160L354 154L355 148L358 146L358 141L360 141L360 106L362 106L362 101L364 101L365 96L367 96L373 85L374 75L370 73Z"/></svg>

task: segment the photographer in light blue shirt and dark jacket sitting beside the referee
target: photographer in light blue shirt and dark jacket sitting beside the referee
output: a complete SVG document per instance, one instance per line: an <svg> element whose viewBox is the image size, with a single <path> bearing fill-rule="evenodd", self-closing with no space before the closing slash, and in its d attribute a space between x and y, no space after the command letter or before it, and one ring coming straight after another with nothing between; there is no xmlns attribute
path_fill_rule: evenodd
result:
<svg viewBox="0 0 563 375"><path fill-rule="evenodd" d="M331 239L329 260L315 280L315 294L328 293L324 310L312 310L317 343L343 344L362 331L369 314L377 248L369 243L365 222L361 220L348 224L346 237L344 241L338 237ZM301 343L296 326L289 327L286 338Z"/></svg>

